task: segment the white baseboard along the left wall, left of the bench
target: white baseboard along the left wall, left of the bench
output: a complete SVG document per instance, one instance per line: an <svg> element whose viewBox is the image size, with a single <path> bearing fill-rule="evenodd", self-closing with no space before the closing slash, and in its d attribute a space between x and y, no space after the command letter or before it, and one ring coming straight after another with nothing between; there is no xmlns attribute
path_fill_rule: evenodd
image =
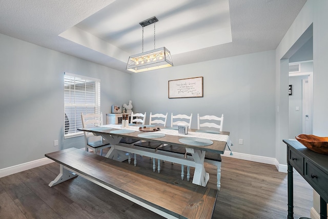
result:
<svg viewBox="0 0 328 219"><path fill-rule="evenodd" d="M0 178L2 177L6 177L9 176L11 174L17 173L17 172L22 172L28 169L32 169L38 166L42 166L45 164L49 164L54 162L53 160L50 160L49 158L42 158L39 160L35 160L35 161L30 161L27 163L23 163L23 164L18 164L15 166L10 166L4 169L0 169Z"/></svg>

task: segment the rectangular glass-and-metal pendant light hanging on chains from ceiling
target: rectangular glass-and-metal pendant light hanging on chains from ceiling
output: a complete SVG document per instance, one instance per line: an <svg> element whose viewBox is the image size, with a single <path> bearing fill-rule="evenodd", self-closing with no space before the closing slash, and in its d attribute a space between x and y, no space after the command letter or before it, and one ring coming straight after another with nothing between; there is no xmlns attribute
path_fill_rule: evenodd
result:
<svg viewBox="0 0 328 219"><path fill-rule="evenodd" d="M128 71L138 73L173 66L171 53L168 49L165 47L155 49L155 23L157 21L156 17L151 17L139 23L142 27L142 52L129 57ZM144 52L144 27L150 24L154 24L154 49Z"/></svg>

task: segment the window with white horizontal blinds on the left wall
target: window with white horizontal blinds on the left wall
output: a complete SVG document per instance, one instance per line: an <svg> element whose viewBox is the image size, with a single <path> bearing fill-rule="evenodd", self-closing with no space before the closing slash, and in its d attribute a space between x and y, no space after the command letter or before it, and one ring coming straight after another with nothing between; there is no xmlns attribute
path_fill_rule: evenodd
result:
<svg viewBox="0 0 328 219"><path fill-rule="evenodd" d="M81 113L100 113L100 80L65 73L64 75L64 138L83 135Z"/></svg>

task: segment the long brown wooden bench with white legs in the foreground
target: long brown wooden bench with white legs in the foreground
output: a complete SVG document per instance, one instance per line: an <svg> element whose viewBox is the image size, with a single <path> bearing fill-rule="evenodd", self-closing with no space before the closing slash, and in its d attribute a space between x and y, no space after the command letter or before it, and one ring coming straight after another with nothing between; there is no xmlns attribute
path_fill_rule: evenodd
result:
<svg viewBox="0 0 328 219"><path fill-rule="evenodd" d="M60 164L49 186L84 177L167 218L211 218L218 191L144 168L101 157L77 148L45 155ZM153 172L151 172L153 173Z"/></svg>

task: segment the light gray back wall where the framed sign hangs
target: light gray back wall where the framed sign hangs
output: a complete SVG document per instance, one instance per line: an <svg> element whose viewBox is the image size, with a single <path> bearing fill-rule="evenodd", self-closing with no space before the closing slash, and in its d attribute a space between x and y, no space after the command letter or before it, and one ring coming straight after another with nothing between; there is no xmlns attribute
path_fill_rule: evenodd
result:
<svg viewBox="0 0 328 219"><path fill-rule="evenodd" d="M169 80L199 76L203 76L204 97L168 98ZM223 129L230 132L233 151L275 156L270 141L275 136L275 51L133 74L131 87L135 111L192 113L192 128L197 127L197 113L224 114Z"/></svg>

